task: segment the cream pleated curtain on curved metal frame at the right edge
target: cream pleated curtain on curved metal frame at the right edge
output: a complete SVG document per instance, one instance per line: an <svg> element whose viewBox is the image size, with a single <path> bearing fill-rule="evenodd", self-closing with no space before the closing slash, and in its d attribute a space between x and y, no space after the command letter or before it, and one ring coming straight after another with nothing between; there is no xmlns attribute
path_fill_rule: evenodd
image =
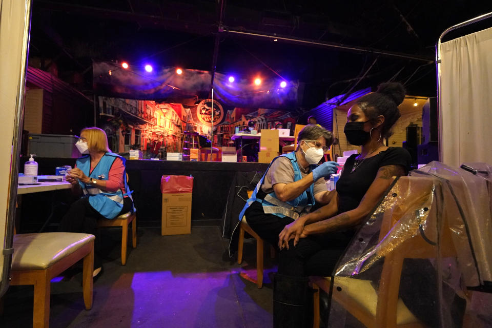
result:
<svg viewBox="0 0 492 328"><path fill-rule="evenodd" d="M441 161L492 164L492 28L441 45L441 98Z"/></svg>

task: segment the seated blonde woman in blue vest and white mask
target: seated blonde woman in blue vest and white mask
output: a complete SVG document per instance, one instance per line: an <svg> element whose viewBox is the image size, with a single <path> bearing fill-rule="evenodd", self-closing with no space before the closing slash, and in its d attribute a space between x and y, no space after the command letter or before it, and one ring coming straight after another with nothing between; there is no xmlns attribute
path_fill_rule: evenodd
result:
<svg viewBox="0 0 492 328"><path fill-rule="evenodd" d="M97 256L100 238L97 236L97 219L113 219L128 213L133 201L127 185L125 158L108 148L106 133L99 128L85 128L75 144L82 154L75 168L67 175L72 191L80 195L61 219L59 231L89 233L96 236L94 277L103 269Z"/></svg>

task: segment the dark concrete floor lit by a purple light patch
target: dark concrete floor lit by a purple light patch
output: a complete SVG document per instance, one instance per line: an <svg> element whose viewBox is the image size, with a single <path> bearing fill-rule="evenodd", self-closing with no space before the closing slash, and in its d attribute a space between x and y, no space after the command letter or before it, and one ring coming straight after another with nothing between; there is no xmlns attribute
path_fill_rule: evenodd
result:
<svg viewBox="0 0 492 328"><path fill-rule="evenodd" d="M244 259L224 257L227 241L219 227L193 227L190 235L160 236L138 230L127 265L119 258L118 230L103 238L111 250L94 283L94 303L84 310L81 273L52 282L50 326L56 327L271 327L274 260L265 256L263 288L256 279L255 242L245 242ZM61 279L61 280L60 280ZM55 280L60 280L55 282ZM32 286L12 286L1 327L32 325Z"/></svg>

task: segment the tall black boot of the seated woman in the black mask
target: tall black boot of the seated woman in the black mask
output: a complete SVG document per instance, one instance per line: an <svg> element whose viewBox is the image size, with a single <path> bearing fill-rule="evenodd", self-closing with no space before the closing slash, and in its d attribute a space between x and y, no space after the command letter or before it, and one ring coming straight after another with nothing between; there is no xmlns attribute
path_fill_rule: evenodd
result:
<svg viewBox="0 0 492 328"><path fill-rule="evenodd" d="M273 278L274 328L313 326L313 293L308 277L275 274Z"/></svg>

